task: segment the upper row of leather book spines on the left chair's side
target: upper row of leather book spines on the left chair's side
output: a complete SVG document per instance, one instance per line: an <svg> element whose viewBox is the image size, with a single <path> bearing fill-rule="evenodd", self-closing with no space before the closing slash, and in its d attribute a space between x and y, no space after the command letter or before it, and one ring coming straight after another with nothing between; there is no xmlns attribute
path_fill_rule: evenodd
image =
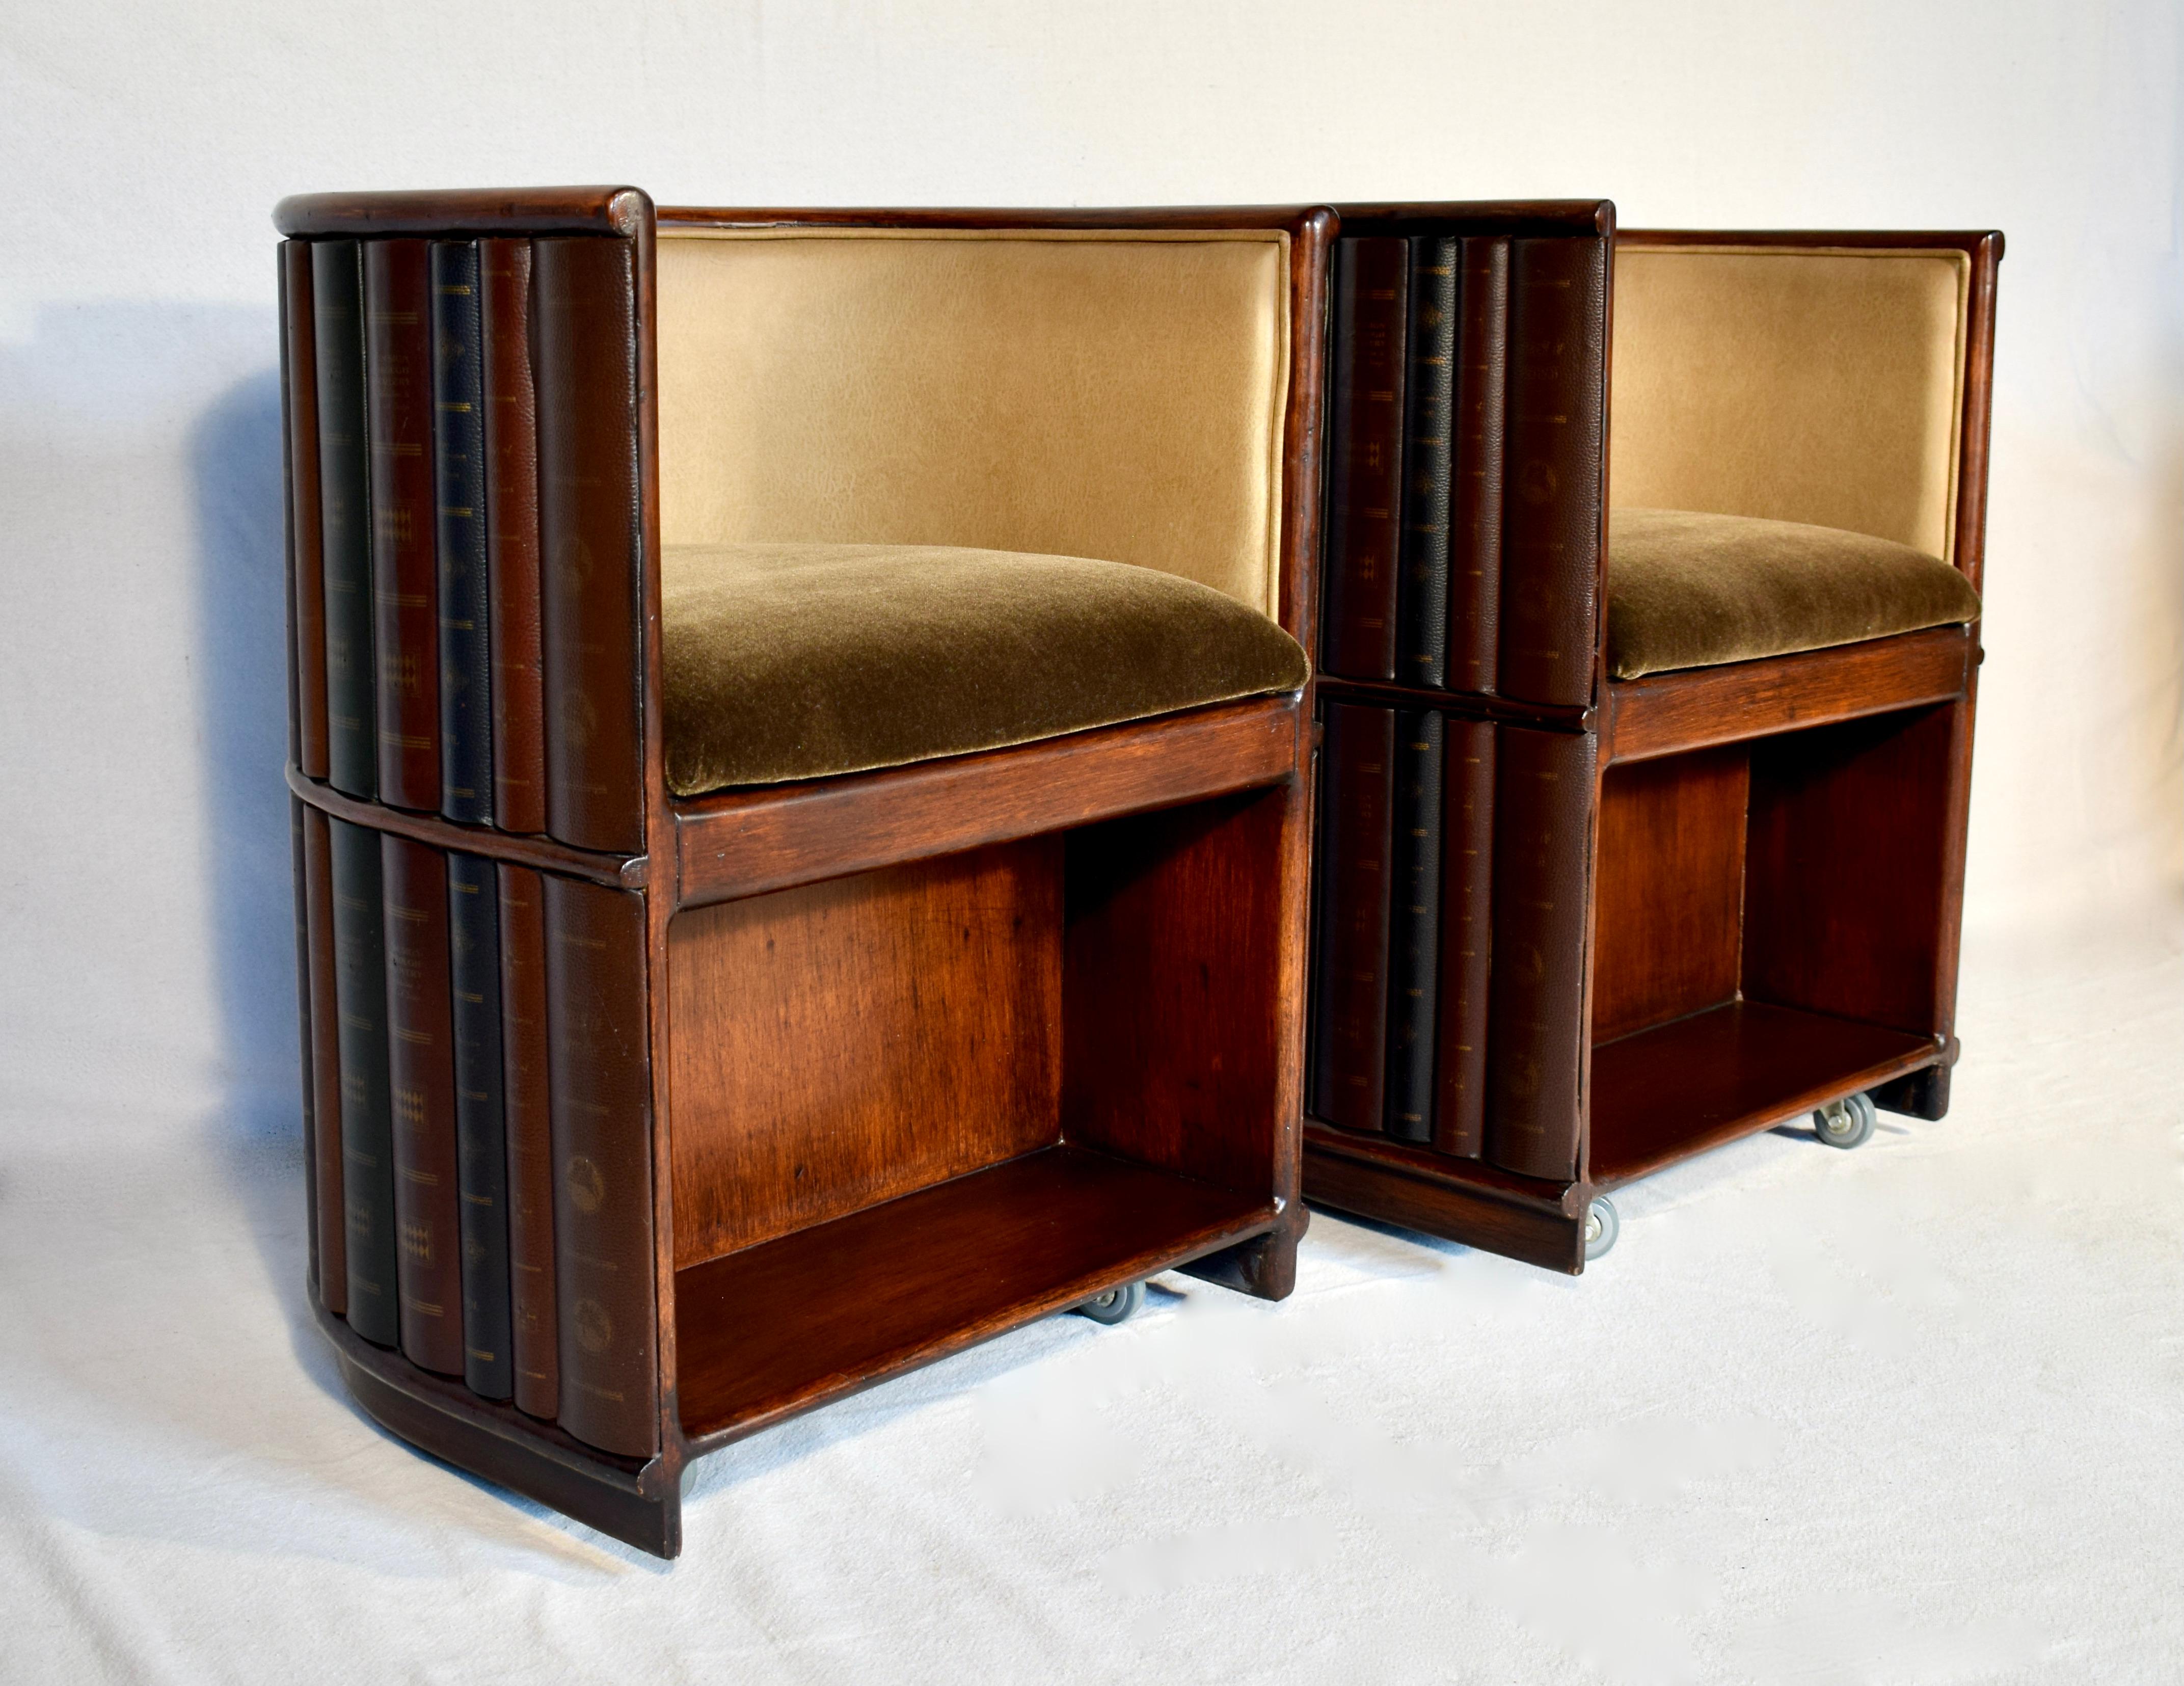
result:
<svg viewBox="0 0 2184 1686"><path fill-rule="evenodd" d="M280 282L297 767L640 852L631 245L288 240Z"/></svg>

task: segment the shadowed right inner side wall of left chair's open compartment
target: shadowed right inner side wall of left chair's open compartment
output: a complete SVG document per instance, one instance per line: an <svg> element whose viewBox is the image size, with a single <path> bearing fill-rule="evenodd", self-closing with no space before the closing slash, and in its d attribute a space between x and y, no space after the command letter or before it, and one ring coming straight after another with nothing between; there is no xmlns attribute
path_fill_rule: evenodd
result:
<svg viewBox="0 0 2184 1686"><path fill-rule="evenodd" d="M1068 836L1061 1131L1247 1195L1275 1188L1299 1002L1282 943L1302 786Z"/></svg>

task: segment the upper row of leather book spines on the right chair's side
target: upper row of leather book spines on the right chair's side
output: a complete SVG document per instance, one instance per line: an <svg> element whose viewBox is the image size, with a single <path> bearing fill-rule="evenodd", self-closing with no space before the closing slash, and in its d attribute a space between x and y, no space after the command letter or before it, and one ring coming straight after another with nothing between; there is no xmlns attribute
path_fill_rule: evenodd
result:
<svg viewBox="0 0 2184 1686"><path fill-rule="evenodd" d="M1592 692L1607 242L1334 247L1321 670Z"/></svg>

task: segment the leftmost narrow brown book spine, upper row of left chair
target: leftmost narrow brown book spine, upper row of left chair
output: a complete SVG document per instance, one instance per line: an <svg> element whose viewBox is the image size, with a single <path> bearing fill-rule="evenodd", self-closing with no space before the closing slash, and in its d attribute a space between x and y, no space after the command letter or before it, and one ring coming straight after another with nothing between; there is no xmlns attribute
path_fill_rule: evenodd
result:
<svg viewBox="0 0 2184 1686"><path fill-rule="evenodd" d="M325 777L325 553L319 513L319 336L310 314L310 242L280 245L282 439L288 487L288 753ZM339 1234L339 1232L336 1232Z"/></svg>

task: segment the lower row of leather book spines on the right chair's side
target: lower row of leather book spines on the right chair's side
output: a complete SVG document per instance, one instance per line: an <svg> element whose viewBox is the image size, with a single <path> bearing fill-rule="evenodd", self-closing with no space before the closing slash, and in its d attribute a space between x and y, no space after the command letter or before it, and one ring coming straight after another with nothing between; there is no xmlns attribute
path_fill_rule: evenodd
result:
<svg viewBox="0 0 2184 1686"><path fill-rule="evenodd" d="M1594 738L1328 703L1313 1116L1577 1175Z"/></svg>

